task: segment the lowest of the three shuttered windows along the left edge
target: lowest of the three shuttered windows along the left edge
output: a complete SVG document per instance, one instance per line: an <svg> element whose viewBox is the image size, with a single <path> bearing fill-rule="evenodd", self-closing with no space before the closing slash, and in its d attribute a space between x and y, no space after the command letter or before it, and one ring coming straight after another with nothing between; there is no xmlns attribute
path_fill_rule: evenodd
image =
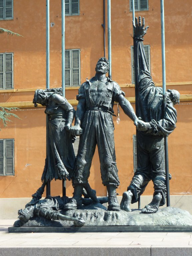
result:
<svg viewBox="0 0 192 256"><path fill-rule="evenodd" d="M0 139L0 176L14 174L14 139Z"/></svg>

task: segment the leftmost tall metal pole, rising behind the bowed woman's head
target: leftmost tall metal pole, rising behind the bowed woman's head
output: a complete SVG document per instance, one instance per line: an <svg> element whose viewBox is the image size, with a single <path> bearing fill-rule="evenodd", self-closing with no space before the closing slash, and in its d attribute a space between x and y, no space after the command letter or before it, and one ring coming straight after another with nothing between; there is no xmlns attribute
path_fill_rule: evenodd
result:
<svg viewBox="0 0 192 256"><path fill-rule="evenodd" d="M46 0L46 88L49 89L49 0ZM49 117L46 115L46 158L49 153ZM51 194L50 180L46 184L46 195Z"/></svg>

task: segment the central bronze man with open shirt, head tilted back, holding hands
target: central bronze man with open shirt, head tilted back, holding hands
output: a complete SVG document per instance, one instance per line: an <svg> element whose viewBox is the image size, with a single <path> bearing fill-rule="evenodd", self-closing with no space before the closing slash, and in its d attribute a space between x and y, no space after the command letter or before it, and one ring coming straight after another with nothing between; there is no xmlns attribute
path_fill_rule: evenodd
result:
<svg viewBox="0 0 192 256"><path fill-rule="evenodd" d="M96 74L91 80L83 83L79 89L79 101L75 114L75 125L70 132L80 135L73 186L74 194L65 209L76 209L81 206L83 186L88 183L92 158L96 145L98 146L101 178L108 191L108 210L119 211L116 188L119 186L118 170L116 166L114 143L114 101L119 102L123 111L133 121L137 121L135 112L125 93L119 85L106 77L109 71L109 61L100 58L95 68Z"/></svg>

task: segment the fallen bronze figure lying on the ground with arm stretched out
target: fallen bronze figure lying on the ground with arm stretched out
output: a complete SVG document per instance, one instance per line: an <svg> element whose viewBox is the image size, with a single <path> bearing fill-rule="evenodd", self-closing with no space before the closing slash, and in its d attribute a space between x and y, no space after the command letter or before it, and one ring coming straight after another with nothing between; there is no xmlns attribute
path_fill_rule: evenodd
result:
<svg viewBox="0 0 192 256"><path fill-rule="evenodd" d="M85 221L82 218L69 217L59 212L59 210L62 210L65 204L70 201L70 199L71 198L68 198L67 196L47 196L45 199L40 199L37 203L33 205L27 206L27 204L25 209L21 209L18 211L19 220L15 221L13 225L23 226L30 218L33 217L33 215L37 215L43 216L44 218L50 220L73 221L75 226L83 226L85 224ZM98 200L101 204L107 203L108 197L101 197L98 198ZM82 198L82 203L84 205L89 205L93 203L93 200L90 198Z"/></svg>

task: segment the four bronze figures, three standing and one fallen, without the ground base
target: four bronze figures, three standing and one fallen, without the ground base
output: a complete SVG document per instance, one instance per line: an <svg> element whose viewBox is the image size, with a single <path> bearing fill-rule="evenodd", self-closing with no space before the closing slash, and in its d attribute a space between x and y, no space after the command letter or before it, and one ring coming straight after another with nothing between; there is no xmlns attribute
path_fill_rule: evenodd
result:
<svg viewBox="0 0 192 256"><path fill-rule="evenodd" d="M130 102L124 97L125 93L119 85L106 77L109 71L109 61L102 57L96 64L96 74L86 80L77 95L77 111L62 96L59 89L37 90L33 103L46 107L49 116L49 152L45 161L42 175L43 190L48 180L71 179L74 187L73 197L52 198L40 200L41 193L35 193L31 203L24 210L19 210L20 224L28 217L38 213L49 219L65 219L58 212L79 209L86 203L82 194L87 195L90 202L98 202L96 192L88 183L92 158L96 145L98 146L101 178L107 187L109 211L131 211L130 204L137 202L144 192L148 182L153 181L154 194L151 203L142 209L142 213L155 213L160 205L165 204L165 154L164 137L168 136L176 127L177 112L174 108L179 103L180 94L176 90L166 93L166 109L163 111L162 88L156 87L152 81L145 52L143 36L145 20L141 25L135 18L134 28L134 65L137 87L138 112L136 116ZM118 169L116 166L114 145L114 115L113 105L118 102L124 113L131 118L137 132L137 160L138 168L132 178L127 191L119 206L116 188L119 186ZM75 124L71 126L75 116ZM75 159L72 140L80 136L78 154ZM51 206L50 206L51 205ZM53 207L52 207L53 205ZM30 215L31 214L31 215ZM72 218L75 225L83 225L84 221Z"/></svg>

